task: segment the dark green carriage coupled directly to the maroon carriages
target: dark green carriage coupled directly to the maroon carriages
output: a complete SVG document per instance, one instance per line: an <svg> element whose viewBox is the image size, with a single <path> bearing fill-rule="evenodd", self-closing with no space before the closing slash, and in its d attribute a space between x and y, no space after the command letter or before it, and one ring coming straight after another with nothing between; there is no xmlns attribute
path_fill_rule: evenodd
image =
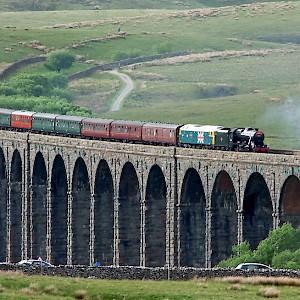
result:
<svg viewBox="0 0 300 300"><path fill-rule="evenodd" d="M58 115L55 119L55 132L67 136L80 136L83 119L77 116Z"/></svg>

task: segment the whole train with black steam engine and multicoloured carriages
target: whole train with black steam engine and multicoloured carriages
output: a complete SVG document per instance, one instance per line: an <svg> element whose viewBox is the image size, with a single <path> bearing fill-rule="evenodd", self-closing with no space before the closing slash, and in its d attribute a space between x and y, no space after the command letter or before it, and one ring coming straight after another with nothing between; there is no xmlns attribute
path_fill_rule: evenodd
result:
<svg viewBox="0 0 300 300"><path fill-rule="evenodd" d="M257 128L227 128L66 116L0 108L5 130L150 145L267 152Z"/></svg>

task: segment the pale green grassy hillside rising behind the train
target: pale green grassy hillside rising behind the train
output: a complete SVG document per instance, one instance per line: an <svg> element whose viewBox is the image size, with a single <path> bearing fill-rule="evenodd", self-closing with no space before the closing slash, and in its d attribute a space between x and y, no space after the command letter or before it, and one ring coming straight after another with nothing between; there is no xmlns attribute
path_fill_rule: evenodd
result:
<svg viewBox="0 0 300 300"><path fill-rule="evenodd" d="M122 83L109 73L71 82L74 103L112 118L255 126L271 147L299 149L299 13L298 1L181 10L2 12L0 69L63 48L79 59L67 73L111 62L120 52L189 51L181 59L124 69L135 88L119 112L110 113L109 105ZM18 73L46 71L36 64Z"/></svg>

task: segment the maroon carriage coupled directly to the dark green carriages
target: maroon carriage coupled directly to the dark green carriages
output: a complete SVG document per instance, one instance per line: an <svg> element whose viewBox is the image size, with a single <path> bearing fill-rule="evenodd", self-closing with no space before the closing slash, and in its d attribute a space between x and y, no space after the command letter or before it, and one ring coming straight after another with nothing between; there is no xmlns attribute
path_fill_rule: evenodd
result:
<svg viewBox="0 0 300 300"><path fill-rule="evenodd" d="M112 121L113 119L84 118L82 120L81 134L86 137L109 139Z"/></svg>

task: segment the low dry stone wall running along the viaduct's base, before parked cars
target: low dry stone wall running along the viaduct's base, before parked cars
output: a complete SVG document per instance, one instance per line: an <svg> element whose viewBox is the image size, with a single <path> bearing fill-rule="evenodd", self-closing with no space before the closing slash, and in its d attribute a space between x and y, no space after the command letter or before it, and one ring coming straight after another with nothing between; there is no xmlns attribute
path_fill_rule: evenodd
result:
<svg viewBox="0 0 300 300"><path fill-rule="evenodd" d="M200 268L143 268L143 267L86 267L58 266L40 268L38 266L18 266L15 264L0 265L1 271L21 271L27 275L48 275L62 277L79 277L93 279L130 279L130 280L191 280L195 278L222 277L290 277L300 278L300 271L243 271L235 269L200 269Z"/></svg>

